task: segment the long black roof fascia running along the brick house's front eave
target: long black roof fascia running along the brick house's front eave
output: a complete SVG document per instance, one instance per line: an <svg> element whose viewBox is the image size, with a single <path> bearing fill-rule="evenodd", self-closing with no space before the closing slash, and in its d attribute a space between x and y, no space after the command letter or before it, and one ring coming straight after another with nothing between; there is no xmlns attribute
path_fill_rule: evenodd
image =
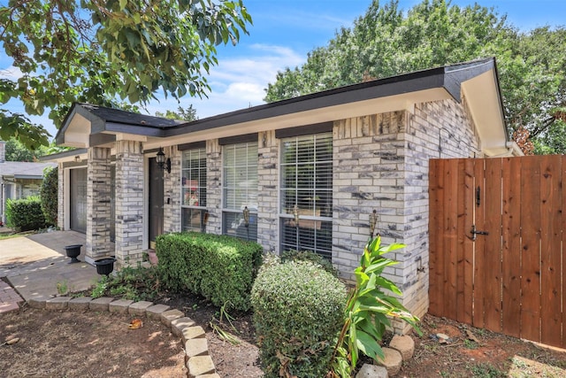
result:
<svg viewBox="0 0 566 378"><path fill-rule="evenodd" d="M69 112L65 118L64 126L61 127L57 133L57 138L59 135L62 135L66 127L68 127L68 123L74 113L80 113L88 120L91 120L91 122L94 121L94 124L91 127L91 134L110 131L152 137L172 137L194 133L196 131L209 130L216 127L226 127L255 120L265 120L295 112L308 112L340 104L351 104L359 101L402 95L426 89L446 89L447 93L450 94L455 101L461 102L460 87L462 82L469 80L478 74L485 73L493 67L494 58L478 59L453 66L431 68L414 73L391 76L376 81L352 84L337 89L328 89L310 95L289 98L270 104L262 104L248 109L228 112L218 116L205 118L203 120L195 120L187 123L181 123L178 126L169 127L157 127L150 125L141 126L129 123L106 121L89 112L88 109L83 108L81 104L73 104L72 111ZM120 112L119 110L113 111ZM99 120L99 122L96 120ZM57 138L57 143L63 143L63 140L59 141Z"/></svg>

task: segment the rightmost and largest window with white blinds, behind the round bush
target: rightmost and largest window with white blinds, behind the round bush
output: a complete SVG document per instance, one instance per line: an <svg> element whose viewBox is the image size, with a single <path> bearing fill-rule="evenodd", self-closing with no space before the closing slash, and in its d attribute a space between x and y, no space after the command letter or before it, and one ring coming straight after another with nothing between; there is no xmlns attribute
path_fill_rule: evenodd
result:
<svg viewBox="0 0 566 378"><path fill-rule="evenodd" d="M333 135L281 140L280 249L332 259Z"/></svg>

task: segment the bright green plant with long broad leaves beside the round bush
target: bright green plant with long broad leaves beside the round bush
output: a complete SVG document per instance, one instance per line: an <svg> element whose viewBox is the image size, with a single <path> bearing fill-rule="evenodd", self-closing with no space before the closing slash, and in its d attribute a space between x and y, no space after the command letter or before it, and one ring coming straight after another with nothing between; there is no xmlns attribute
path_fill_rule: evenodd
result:
<svg viewBox="0 0 566 378"><path fill-rule="evenodd" d="M371 359L384 358L379 342L383 338L386 326L390 326L390 317L407 321L420 334L418 318L399 302L396 297L387 294L384 289L402 295L394 282L382 276L386 266L397 264L383 255L404 248L405 245L394 243L381 245L378 235L363 249L360 266L356 268L356 287L350 291L344 323L333 353L333 374L342 378L349 377L356 368L360 352Z"/></svg>

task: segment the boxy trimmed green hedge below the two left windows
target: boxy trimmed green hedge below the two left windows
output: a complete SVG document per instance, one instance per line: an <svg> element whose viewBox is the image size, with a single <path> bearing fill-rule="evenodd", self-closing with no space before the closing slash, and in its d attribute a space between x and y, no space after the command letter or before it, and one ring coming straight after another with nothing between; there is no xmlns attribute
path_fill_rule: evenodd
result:
<svg viewBox="0 0 566 378"><path fill-rule="evenodd" d="M249 310L249 292L262 246L226 235L197 232L160 235L157 274L167 289L188 290L226 310Z"/></svg>

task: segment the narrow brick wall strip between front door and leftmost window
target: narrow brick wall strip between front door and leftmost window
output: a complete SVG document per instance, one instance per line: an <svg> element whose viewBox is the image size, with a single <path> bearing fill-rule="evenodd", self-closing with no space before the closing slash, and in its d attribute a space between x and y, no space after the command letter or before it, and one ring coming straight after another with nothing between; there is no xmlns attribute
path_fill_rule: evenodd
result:
<svg viewBox="0 0 566 378"><path fill-rule="evenodd" d="M180 151L177 146L164 149L171 158L171 174L164 173L163 232L180 232Z"/></svg>

